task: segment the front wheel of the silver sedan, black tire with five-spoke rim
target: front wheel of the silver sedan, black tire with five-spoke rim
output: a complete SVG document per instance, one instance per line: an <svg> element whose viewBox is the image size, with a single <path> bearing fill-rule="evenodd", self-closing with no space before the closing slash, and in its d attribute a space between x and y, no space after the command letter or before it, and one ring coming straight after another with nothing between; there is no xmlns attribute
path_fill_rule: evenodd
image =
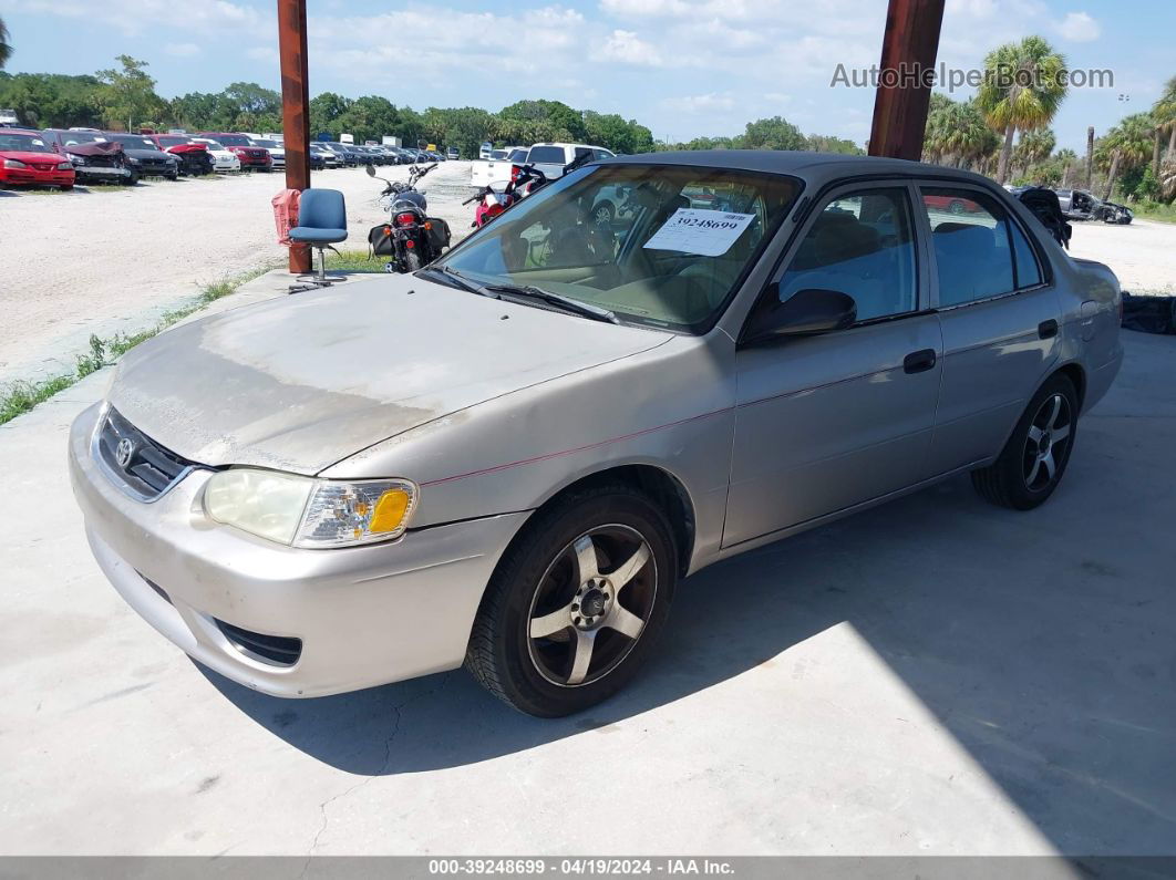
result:
<svg viewBox="0 0 1176 880"><path fill-rule="evenodd" d="M636 489L564 496L536 513L499 562L467 669L495 697L541 718L608 699L641 667L669 617L676 559L664 513Z"/></svg>

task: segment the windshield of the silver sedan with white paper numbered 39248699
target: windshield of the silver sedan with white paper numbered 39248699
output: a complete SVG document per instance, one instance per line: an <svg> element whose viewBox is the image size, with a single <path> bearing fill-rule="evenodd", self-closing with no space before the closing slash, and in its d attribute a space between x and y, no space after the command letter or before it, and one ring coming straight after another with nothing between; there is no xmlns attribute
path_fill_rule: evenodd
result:
<svg viewBox="0 0 1176 880"><path fill-rule="evenodd" d="M539 287L622 321L700 332L800 190L773 174L593 166L524 199L441 262L480 284Z"/></svg>

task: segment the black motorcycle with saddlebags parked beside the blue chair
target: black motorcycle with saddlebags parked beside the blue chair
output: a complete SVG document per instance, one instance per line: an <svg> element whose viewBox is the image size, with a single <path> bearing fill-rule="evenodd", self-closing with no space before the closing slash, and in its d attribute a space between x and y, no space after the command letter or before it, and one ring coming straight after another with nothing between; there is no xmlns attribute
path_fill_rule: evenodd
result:
<svg viewBox="0 0 1176 880"><path fill-rule="evenodd" d="M382 180L387 186L380 194L380 207L388 211L388 222L373 227L368 233L368 244L374 256L392 257L383 267L387 273L412 273L428 266L449 247L449 224L439 217L428 216L428 201L416 184L426 174L436 168L413 166L408 181L390 181L379 177L375 168L365 166L369 177Z"/></svg>

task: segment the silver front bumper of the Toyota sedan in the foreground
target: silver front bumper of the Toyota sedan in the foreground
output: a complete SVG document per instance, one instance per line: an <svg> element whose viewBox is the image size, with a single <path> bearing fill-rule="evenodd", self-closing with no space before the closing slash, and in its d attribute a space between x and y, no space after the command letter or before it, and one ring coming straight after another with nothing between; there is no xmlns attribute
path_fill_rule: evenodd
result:
<svg viewBox="0 0 1176 880"><path fill-rule="evenodd" d="M341 693L461 665L486 584L527 513L387 544L296 550L209 522L201 495L211 471L193 471L151 503L123 495L91 456L100 410L82 412L69 436L71 482L91 548L122 598L191 657L278 697ZM301 653L293 665L274 665L236 646L218 622L301 639Z"/></svg>

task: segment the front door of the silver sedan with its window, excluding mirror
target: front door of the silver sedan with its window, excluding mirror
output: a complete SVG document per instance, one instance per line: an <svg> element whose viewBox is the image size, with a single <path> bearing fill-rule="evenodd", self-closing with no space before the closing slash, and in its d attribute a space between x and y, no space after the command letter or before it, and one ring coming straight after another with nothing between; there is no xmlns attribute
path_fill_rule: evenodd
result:
<svg viewBox="0 0 1176 880"><path fill-rule="evenodd" d="M906 184L847 188L802 230L779 296L838 290L858 320L739 350L724 546L918 481L943 344L922 300L911 197Z"/></svg>

